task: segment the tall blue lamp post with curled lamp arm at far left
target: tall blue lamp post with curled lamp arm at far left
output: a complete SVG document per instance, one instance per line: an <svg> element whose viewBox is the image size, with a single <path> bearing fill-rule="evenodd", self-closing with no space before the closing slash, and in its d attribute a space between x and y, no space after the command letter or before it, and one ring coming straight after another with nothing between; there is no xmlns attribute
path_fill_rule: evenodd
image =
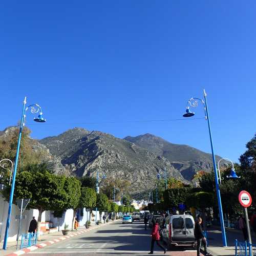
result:
<svg viewBox="0 0 256 256"><path fill-rule="evenodd" d="M12 201L13 201L13 194L14 194L14 187L15 187L15 178L16 178L17 165L18 165L20 139L22 138L22 131L23 131L23 127L25 125L26 111L28 109L30 109L32 114L39 113L38 117L34 118L35 122L40 122L40 123L46 122L46 119L42 118L42 110L41 110L41 107L38 104L29 105L25 109L25 106L26 106L26 103L27 103L26 100L27 100L27 97L25 97L24 102L23 102L22 118L20 119L20 125L19 125L18 144L17 144L17 151L16 151L13 177L12 177L12 186L11 186L11 194L10 194L10 200L9 200L8 217L7 217L6 228L5 228L5 239L4 239L4 245L3 245L4 250L6 250L6 248L7 248L7 239L8 239L8 231L9 231L9 227L10 227L10 218L11 218L11 212L12 212Z"/></svg>

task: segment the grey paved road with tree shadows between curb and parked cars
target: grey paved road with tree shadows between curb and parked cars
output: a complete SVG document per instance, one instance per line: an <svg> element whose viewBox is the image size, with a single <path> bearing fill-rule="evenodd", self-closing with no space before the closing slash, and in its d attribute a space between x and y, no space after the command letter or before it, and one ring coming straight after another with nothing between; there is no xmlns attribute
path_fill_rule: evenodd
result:
<svg viewBox="0 0 256 256"><path fill-rule="evenodd" d="M121 224L113 222L109 225L59 242L29 254L42 255L147 255L150 251L150 230L143 229L142 222ZM173 256L196 256L195 250L166 252L163 254L156 246L154 254Z"/></svg>

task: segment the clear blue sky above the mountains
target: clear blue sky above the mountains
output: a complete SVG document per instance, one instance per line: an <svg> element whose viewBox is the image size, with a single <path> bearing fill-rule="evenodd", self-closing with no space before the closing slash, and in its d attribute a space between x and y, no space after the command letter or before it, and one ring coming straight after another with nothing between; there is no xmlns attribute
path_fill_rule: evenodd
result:
<svg viewBox="0 0 256 256"><path fill-rule="evenodd" d="M181 118L205 88L216 153L237 161L256 130L255 13L234 0L1 2L0 130L27 96L47 118L28 114L34 138L79 126L210 152L203 119L106 123Z"/></svg>

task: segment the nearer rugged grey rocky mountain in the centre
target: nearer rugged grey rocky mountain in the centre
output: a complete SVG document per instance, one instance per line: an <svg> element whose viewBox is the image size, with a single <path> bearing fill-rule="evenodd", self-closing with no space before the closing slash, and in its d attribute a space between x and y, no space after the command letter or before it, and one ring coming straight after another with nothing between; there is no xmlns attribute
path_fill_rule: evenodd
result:
<svg viewBox="0 0 256 256"><path fill-rule="evenodd" d="M58 136L39 141L56 159L61 159L65 173L74 176L100 175L129 180L131 192L152 189L156 174L167 175L185 181L179 170L164 156L156 155L128 140L110 134L75 128ZM63 173L63 169L56 170Z"/></svg>

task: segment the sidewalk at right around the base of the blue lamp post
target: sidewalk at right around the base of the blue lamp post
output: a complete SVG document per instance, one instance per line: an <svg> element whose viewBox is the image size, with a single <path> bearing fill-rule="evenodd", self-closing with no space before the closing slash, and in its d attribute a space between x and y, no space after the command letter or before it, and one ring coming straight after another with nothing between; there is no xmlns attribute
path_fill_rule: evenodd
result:
<svg viewBox="0 0 256 256"><path fill-rule="evenodd" d="M243 241L242 230L237 229L226 229L226 239L227 239L227 247L223 247L222 244L222 234L221 229L219 227L212 227L207 230L208 235L208 250L214 256L225 255L225 256L234 256L234 239L238 239L239 241ZM252 242L256 242L256 237L251 236Z"/></svg>

